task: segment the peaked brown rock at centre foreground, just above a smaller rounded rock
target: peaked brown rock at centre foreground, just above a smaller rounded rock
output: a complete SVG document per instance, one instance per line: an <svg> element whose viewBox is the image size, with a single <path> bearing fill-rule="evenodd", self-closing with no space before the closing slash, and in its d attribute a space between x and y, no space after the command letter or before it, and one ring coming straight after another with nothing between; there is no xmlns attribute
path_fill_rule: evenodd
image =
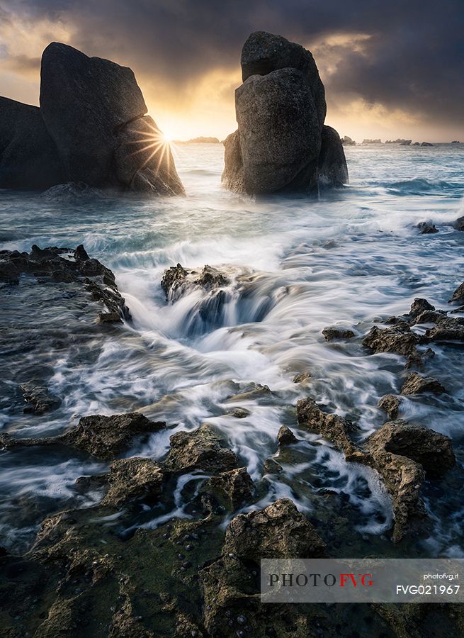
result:
<svg viewBox="0 0 464 638"><path fill-rule="evenodd" d="M237 457L222 447L221 437L208 424L193 432L176 432L170 438L171 449L162 464L169 472L202 469L210 474L236 469Z"/></svg>

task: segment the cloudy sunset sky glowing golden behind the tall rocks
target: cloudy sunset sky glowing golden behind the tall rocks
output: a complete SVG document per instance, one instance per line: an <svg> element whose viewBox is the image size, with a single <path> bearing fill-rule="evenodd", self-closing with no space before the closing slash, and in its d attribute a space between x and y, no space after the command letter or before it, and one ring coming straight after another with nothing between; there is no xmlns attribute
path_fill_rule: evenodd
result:
<svg viewBox="0 0 464 638"><path fill-rule="evenodd" d="M38 104L56 40L131 67L168 138L223 139L254 30L312 52L341 136L464 142L464 0L0 0L0 95Z"/></svg>

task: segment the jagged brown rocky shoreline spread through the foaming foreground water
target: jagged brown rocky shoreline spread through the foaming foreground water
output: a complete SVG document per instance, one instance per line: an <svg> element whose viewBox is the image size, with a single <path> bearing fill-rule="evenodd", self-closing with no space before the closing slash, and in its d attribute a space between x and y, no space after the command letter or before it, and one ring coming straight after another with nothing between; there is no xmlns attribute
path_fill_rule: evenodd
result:
<svg viewBox="0 0 464 638"><path fill-rule="evenodd" d="M0 276L10 286L20 286L30 276L40 285L75 286L87 303L103 306L98 321L130 320L113 273L91 259L83 246L3 251ZM162 289L166 303L177 303L191 289L215 296L228 284L226 272L208 266L184 269L178 264L164 273ZM450 303L463 302L463 285ZM296 405L295 428L320 435L346 461L378 474L392 503L392 541L402 544L431 529L421 496L424 481L436 481L455 466L449 437L398 418L402 398L446 393L438 379L414 368L426 366L434 354L431 345L463 342L464 319L417 298L407 314L389 318L384 325L374 326L367 335L337 328L324 330L323 335L329 341L358 340L368 352L394 352L406 359L407 369L413 370L408 371L400 394L384 396L379 403L390 420L363 440L356 424L328 413L308 396ZM419 335L416 326L429 327ZM304 375L299 377L295 382L307 381ZM33 388L23 392L37 413L54 409L47 406L43 393L34 393ZM272 395L267 386L251 392ZM234 403L245 397L234 396ZM245 408L234 408L235 417L246 415ZM339 549L329 527L300 513L290 498L260 507L263 478L251 479L223 432L205 422L196 430L174 432L169 452L160 461L125 458L135 442L174 425L135 412L88 415L55 437L0 434L4 450L59 447L67 454L86 454L109 464L103 474L76 481L77 492L98 493L97 504L46 517L22 556L1 551L0 625L6 636L316 637L336 632L346 617L354 622L356 605L330 610L324 605L260 605L261 558L334 556ZM281 464L295 463L297 448L298 437L291 427L282 426L276 454L265 462L264 473L278 477ZM179 481L187 474L200 481L188 495L188 518L173 515L156 528L147 522L134 524L147 509L163 512L171 507ZM338 496L320 497L329 499L329 510L336 509ZM332 516L337 520L336 514ZM343 522L337 525L340 533ZM369 605L363 622L377 635L419 638L434 615L456 635L463 632L462 609L451 604L437 608Z"/></svg>

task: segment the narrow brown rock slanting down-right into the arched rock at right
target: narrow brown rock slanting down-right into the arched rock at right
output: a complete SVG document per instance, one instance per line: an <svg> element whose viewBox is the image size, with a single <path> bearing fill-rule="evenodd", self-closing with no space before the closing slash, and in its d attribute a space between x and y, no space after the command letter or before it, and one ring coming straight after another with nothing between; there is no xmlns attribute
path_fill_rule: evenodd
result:
<svg viewBox="0 0 464 638"><path fill-rule="evenodd" d="M349 437L356 427L350 421L336 414L322 412L312 398L300 399L296 410L298 425L302 430L319 432L347 455L356 453L356 446Z"/></svg>

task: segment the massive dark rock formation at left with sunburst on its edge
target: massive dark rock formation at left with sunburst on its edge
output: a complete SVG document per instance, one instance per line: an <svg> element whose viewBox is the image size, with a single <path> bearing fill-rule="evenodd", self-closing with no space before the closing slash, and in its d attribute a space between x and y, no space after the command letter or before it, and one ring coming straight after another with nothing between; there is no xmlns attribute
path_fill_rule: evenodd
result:
<svg viewBox="0 0 464 638"><path fill-rule="evenodd" d="M40 109L0 99L0 187L82 182L183 194L131 69L54 42L43 52L40 79Z"/></svg>

